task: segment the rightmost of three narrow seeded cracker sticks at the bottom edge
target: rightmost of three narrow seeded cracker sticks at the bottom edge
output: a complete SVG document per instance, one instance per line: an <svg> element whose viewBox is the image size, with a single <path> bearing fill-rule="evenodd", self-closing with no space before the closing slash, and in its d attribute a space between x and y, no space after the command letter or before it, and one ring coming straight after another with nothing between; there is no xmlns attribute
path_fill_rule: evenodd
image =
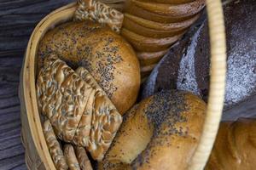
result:
<svg viewBox="0 0 256 170"><path fill-rule="evenodd" d="M76 152L76 156L78 158L79 166L81 170L93 170L90 164L90 160L84 148L81 146L75 147L75 152Z"/></svg>

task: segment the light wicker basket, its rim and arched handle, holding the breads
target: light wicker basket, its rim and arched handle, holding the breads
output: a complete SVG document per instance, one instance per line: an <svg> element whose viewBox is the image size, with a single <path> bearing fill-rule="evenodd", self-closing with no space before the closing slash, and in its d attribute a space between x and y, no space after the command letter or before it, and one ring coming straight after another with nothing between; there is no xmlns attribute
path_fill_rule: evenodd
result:
<svg viewBox="0 0 256 170"><path fill-rule="evenodd" d="M116 0L105 0L105 3ZM22 142L26 148L28 169L55 169L44 139L44 133L38 113L35 87L36 54L38 42L49 29L71 20L77 8L76 3L68 4L46 16L32 32L26 49L20 75L20 105L22 122ZM207 0L207 14L211 39L211 81L207 105L207 117L201 141L193 156L189 169L203 169L218 132L218 124L224 105L224 87L226 73L224 17L220 0Z"/></svg>

